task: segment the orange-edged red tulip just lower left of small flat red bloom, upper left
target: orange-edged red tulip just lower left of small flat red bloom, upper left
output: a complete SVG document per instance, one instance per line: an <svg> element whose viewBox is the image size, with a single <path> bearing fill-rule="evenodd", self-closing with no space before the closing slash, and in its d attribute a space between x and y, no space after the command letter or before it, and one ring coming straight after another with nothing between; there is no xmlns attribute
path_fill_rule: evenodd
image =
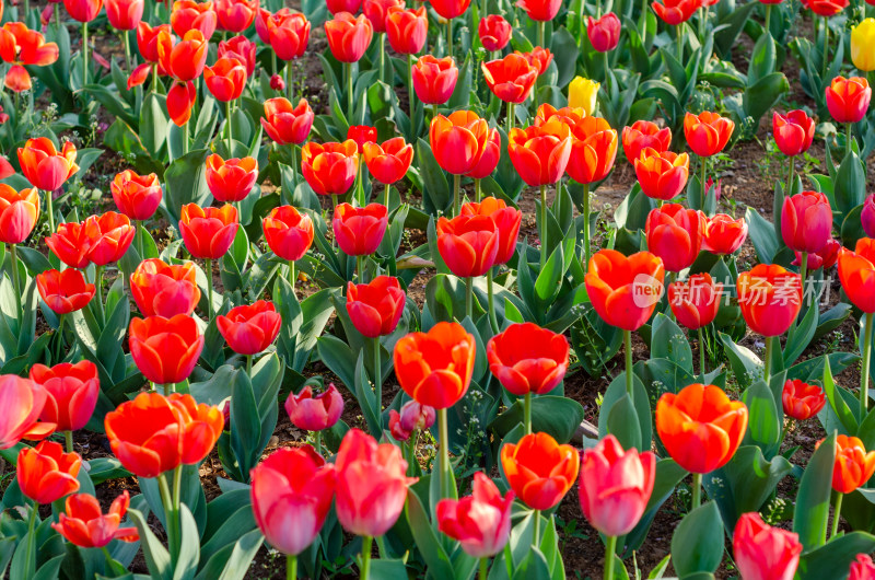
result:
<svg viewBox="0 0 875 580"><path fill-rule="evenodd" d="M318 195L346 194L358 173L358 150L352 139L322 144L311 141L301 149L301 173Z"/></svg>

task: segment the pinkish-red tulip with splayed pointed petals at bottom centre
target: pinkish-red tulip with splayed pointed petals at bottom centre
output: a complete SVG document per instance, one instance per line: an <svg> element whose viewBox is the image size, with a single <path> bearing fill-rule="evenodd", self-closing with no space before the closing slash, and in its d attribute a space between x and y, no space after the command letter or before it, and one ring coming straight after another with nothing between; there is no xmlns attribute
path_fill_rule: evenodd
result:
<svg viewBox="0 0 875 580"><path fill-rule="evenodd" d="M511 536L513 498L513 490L501 497L492 479L477 472L470 496L438 502L438 529L459 542L468 556L494 556L504 549Z"/></svg>

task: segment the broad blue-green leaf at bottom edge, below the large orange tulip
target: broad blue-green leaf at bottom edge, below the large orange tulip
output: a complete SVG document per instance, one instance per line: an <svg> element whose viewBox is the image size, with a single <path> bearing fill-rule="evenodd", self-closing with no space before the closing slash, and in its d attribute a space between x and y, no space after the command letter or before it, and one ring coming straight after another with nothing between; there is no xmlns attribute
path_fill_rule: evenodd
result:
<svg viewBox="0 0 875 580"><path fill-rule="evenodd" d="M714 573L723 559L723 526L714 501L689 512L672 536L672 564L680 578Z"/></svg>

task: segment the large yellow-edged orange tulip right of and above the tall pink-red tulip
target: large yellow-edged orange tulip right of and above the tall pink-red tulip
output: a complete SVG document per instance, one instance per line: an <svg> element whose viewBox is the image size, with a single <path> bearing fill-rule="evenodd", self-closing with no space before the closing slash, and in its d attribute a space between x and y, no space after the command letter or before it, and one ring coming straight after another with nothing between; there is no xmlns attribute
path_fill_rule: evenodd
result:
<svg viewBox="0 0 875 580"><path fill-rule="evenodd" d="M747 430L747 407L719 386L691 384L656 403L656 432L668 454L696 474L719 469L735 454Z"/></svg>

